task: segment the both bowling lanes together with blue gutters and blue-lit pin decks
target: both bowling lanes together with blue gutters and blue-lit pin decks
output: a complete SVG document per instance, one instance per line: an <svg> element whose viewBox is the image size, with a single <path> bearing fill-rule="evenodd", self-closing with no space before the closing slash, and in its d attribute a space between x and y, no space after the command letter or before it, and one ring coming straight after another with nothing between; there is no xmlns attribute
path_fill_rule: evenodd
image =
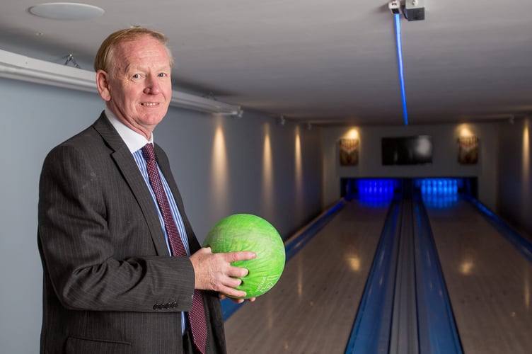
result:
<svg viewBox="0 0 532 354"><path fill-rule="evenodd" d="M228 352L531 353L532 243L475 178L345 178L285 242L254 303L222 302Z"/></svg>

